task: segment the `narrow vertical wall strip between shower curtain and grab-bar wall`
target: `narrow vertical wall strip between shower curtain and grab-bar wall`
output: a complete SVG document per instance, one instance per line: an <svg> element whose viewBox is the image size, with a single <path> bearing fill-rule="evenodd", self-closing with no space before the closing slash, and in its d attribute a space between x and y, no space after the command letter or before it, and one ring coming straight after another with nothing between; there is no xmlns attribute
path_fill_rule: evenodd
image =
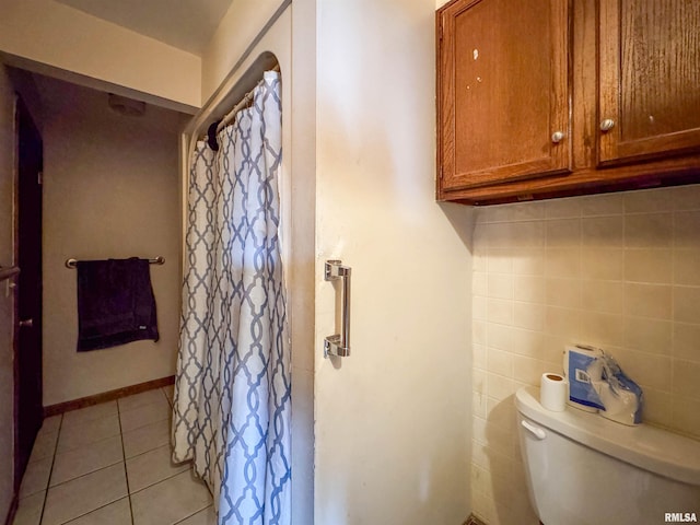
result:
<svg viewBox="0 0 700 525"><path fill-rule="evenodd" d="M292 523L314 523L314 325L316 241L316 35L315 0L295 0L291 8L292 68L282 70L282 82L291 80L291 104L283 115L291 117L292 247L289 260L289 301L292 329ZM287 117L283 117L287 118ZM319 523L319 522L316 522Z"/></svg>

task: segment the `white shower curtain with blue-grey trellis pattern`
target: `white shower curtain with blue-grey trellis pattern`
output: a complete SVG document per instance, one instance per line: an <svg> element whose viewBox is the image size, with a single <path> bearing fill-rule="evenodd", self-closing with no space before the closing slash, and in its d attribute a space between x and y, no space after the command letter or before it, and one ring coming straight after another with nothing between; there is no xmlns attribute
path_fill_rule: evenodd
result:
<svg viewBox="0 0 700 525"><path fill-rule="evenodd" d="M173 459L218 523L291 523L290 343L278 229L280 75L191 159Z"/></svg>

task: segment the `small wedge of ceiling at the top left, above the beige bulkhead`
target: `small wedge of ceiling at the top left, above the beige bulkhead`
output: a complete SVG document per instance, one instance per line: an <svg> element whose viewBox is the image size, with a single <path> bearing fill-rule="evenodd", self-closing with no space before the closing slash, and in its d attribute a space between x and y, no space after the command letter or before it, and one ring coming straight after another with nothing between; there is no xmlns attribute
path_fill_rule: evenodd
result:
<svg viewBox="0 0 700 525"><path fill-rule="evenodd" d="M201 56L233 0L55 0Z"/></svg>

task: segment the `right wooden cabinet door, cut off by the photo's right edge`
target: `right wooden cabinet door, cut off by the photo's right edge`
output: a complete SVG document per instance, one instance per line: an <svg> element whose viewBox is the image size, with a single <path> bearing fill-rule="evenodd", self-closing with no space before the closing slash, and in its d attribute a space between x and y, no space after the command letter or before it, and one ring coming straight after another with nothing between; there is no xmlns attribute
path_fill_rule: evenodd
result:
<svg viewBox="0 0 700 525"><path fill-rule="evenodd" d="M700 1L600 0L598 49L599 164L700 148Z"/></svg>

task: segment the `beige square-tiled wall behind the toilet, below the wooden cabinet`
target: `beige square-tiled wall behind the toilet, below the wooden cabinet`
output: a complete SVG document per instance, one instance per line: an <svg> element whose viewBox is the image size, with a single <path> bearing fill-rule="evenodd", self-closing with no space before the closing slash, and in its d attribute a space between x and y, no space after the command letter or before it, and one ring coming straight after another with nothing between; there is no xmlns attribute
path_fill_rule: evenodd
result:
<svg viewBox="0 0 700 525"><path fill-rule="evenodd" d="M644 390L646 422L700 440L700 185L476 210L472 508L537 524L513 394L598 346Z"/></svg>

